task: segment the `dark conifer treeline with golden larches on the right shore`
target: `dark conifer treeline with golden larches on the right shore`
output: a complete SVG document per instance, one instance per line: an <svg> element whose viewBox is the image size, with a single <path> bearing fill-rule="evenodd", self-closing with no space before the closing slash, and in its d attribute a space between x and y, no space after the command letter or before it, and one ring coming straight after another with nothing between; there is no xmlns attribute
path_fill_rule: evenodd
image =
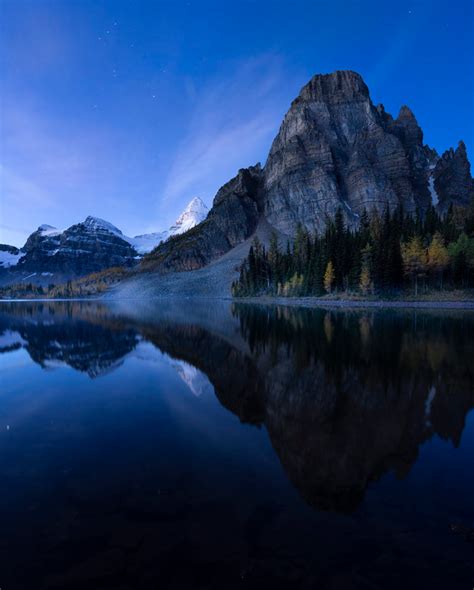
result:
<svg viewBox="0 0 474 590"><path fill-rule="evenodd" d="M321 296L334 292L362 295L474 287L474 212L451 207L440 216L431 207L424 216L402 207L370 215L357 229L336 212L323 234L299 226L283 248L276 233L268 249L255 238L235 297L255 295Z"/></svg>

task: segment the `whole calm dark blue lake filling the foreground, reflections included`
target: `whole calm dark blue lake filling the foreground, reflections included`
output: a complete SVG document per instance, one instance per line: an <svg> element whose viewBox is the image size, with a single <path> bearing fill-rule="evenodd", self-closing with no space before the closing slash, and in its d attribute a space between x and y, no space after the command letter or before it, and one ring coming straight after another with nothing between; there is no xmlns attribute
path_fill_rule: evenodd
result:
<svg viewBox="0 0 474 590"><path fill-rule="evenodd" d="M474 586L474 314L0 305L0 588Z"/></svg>

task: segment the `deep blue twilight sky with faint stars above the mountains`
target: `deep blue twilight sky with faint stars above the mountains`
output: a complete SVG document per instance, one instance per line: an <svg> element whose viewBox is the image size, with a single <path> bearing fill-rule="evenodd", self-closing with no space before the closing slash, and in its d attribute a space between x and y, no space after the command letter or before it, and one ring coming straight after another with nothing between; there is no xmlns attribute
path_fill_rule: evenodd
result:
<svg viewBox="0 0 474 590"><path fill-rule="evenodd" d="M473 159L473 39L471 0L0 0L0 242L89 214L135 235L210 205L336 69Z"/></svg>

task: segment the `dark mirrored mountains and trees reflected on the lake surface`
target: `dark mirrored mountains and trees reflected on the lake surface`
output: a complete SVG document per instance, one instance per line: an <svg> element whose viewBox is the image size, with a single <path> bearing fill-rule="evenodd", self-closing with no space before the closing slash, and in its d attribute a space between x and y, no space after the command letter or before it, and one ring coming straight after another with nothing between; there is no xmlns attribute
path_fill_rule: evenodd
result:
<svg viewBox="0 0 474 590"><path fill-rule="evenodd" d="M454 312L3 304L0 352L96 378L148 343L195 395L211 383L242 422L265 426L307 503L351 512L384 473L406 476L433 434L459 445L474 406L473 328Z"/></svg>

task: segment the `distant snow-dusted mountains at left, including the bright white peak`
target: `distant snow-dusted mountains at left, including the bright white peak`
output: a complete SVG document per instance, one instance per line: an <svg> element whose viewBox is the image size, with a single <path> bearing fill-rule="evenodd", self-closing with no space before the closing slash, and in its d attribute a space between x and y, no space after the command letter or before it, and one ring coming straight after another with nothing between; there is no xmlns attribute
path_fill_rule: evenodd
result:
<svg viewBox="0 0 474 590"><path fill-rule="evenodd" d="M53 283L114 266L131 267L161 242L199 224L207 212L196 197L169 229L133 238L92 216L63 230L40 225L21 249L0 245L0 280Z"/></svg>

